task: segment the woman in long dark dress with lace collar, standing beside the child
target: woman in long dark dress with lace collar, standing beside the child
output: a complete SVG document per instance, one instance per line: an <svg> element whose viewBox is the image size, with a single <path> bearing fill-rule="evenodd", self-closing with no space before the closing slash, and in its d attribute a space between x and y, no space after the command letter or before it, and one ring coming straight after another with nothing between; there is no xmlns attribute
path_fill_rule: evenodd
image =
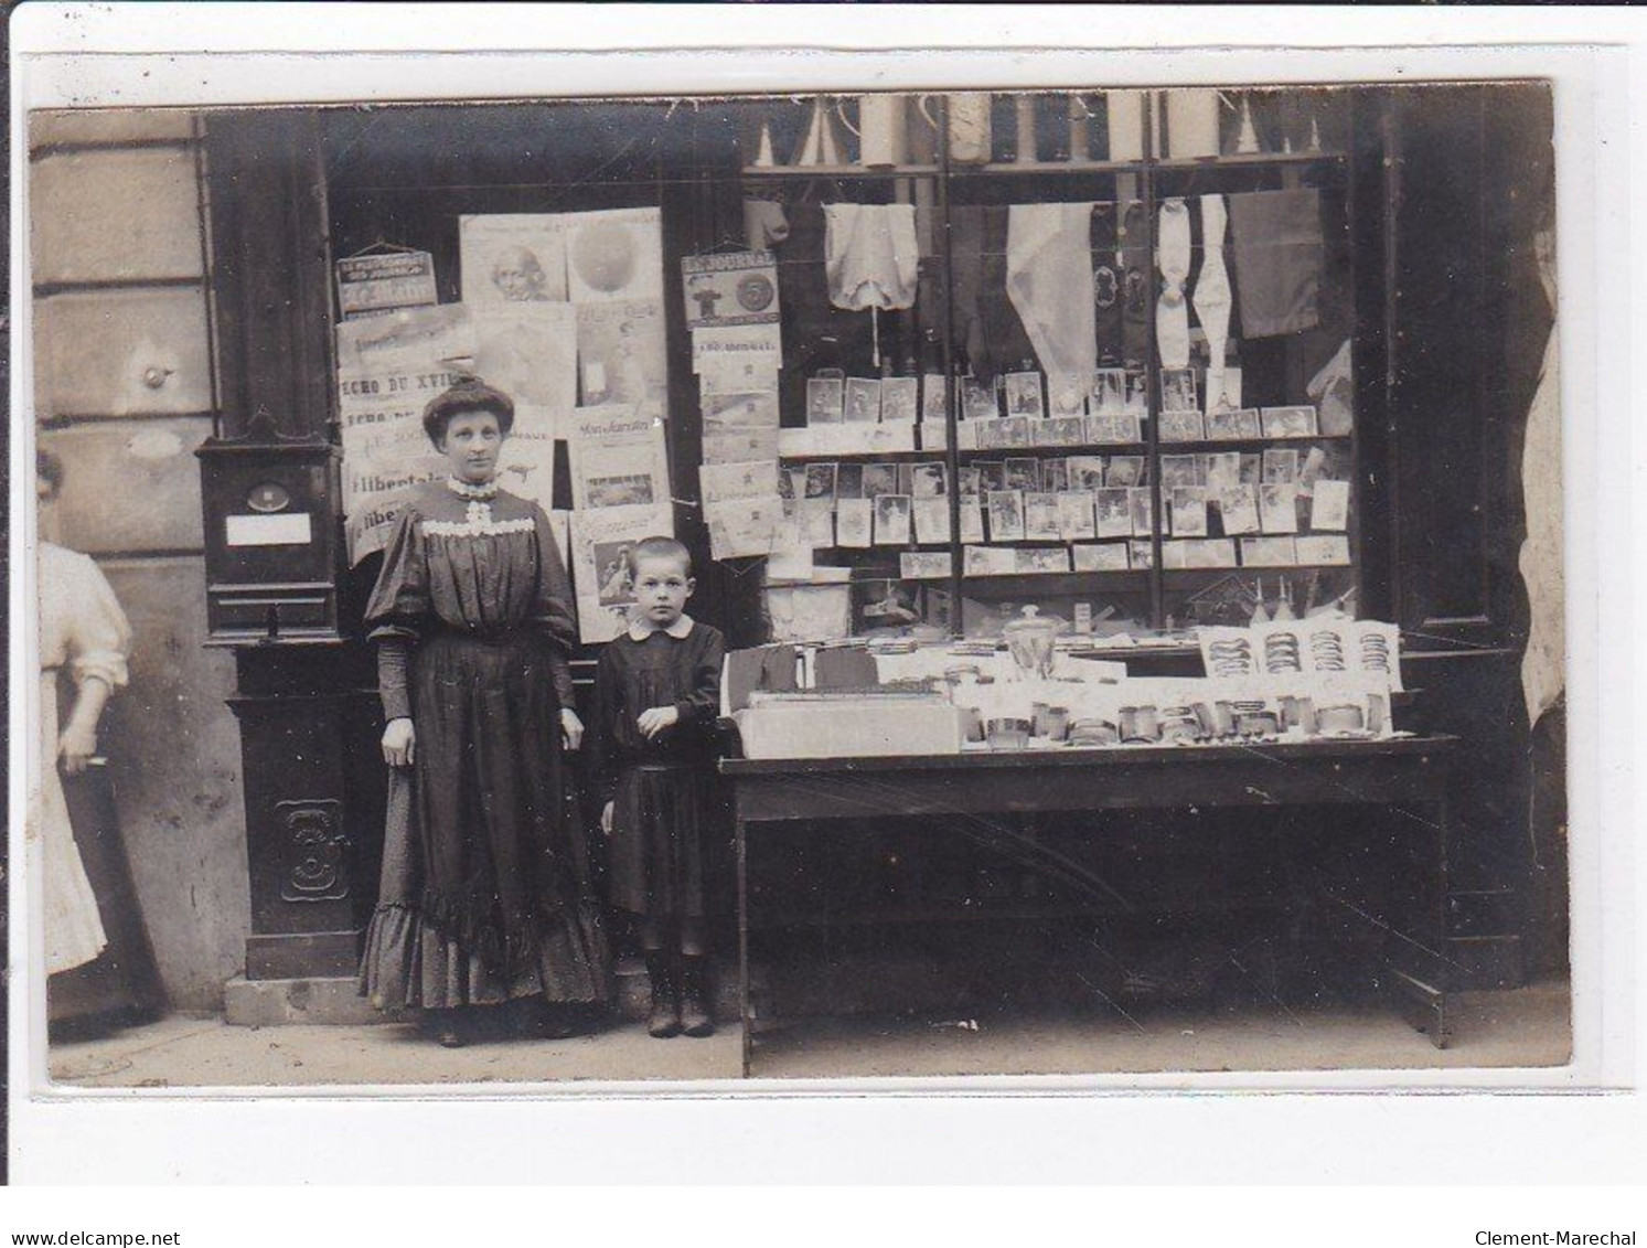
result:
<svg viewBox="0 0 1647 1248"><path fill-rule="evenodd" d="M390 789L361 991L430 1011L448 1045L478 1006L608 999L567 757L583 738L572 591L548 517L497 487L512 423L509 397L478 380L428 405L451 477L410 496L366 611Z"/></svg>

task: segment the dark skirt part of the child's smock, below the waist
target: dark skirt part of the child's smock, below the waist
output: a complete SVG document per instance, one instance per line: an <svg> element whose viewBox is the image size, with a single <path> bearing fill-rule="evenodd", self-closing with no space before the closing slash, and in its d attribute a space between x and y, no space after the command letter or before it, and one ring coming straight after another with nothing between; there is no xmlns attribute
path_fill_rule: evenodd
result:
<svg viewBox="0 0 1647 1248"><path fill-rule="evenodd" d="M613 906L652 919L702 919L708 825L702 764L624 767L613 795Z"/></svg>

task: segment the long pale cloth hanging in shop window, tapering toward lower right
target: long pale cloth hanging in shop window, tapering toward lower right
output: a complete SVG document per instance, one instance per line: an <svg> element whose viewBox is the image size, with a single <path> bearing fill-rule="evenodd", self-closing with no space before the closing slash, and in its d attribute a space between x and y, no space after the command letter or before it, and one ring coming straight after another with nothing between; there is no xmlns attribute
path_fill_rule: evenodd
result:
<svg viewBox="0 0 1647 1248"><path fill-rule="evenodd" d="M1099 367L1092 290L1092 204L1013 204L1006 295L1051 375Z"/></svg>

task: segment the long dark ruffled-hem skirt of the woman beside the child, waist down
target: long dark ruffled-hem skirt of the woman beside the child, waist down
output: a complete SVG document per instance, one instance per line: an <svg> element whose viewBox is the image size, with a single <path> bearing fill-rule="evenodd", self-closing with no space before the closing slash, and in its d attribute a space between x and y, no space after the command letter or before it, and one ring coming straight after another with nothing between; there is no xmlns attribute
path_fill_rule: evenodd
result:
<svg viewBox="0 0 1647 1248"><path fill-rule="evenodd" d="M380 1008L604 1001L606 940L540 642L440 634L412 657L359 988Z"/></svg>

